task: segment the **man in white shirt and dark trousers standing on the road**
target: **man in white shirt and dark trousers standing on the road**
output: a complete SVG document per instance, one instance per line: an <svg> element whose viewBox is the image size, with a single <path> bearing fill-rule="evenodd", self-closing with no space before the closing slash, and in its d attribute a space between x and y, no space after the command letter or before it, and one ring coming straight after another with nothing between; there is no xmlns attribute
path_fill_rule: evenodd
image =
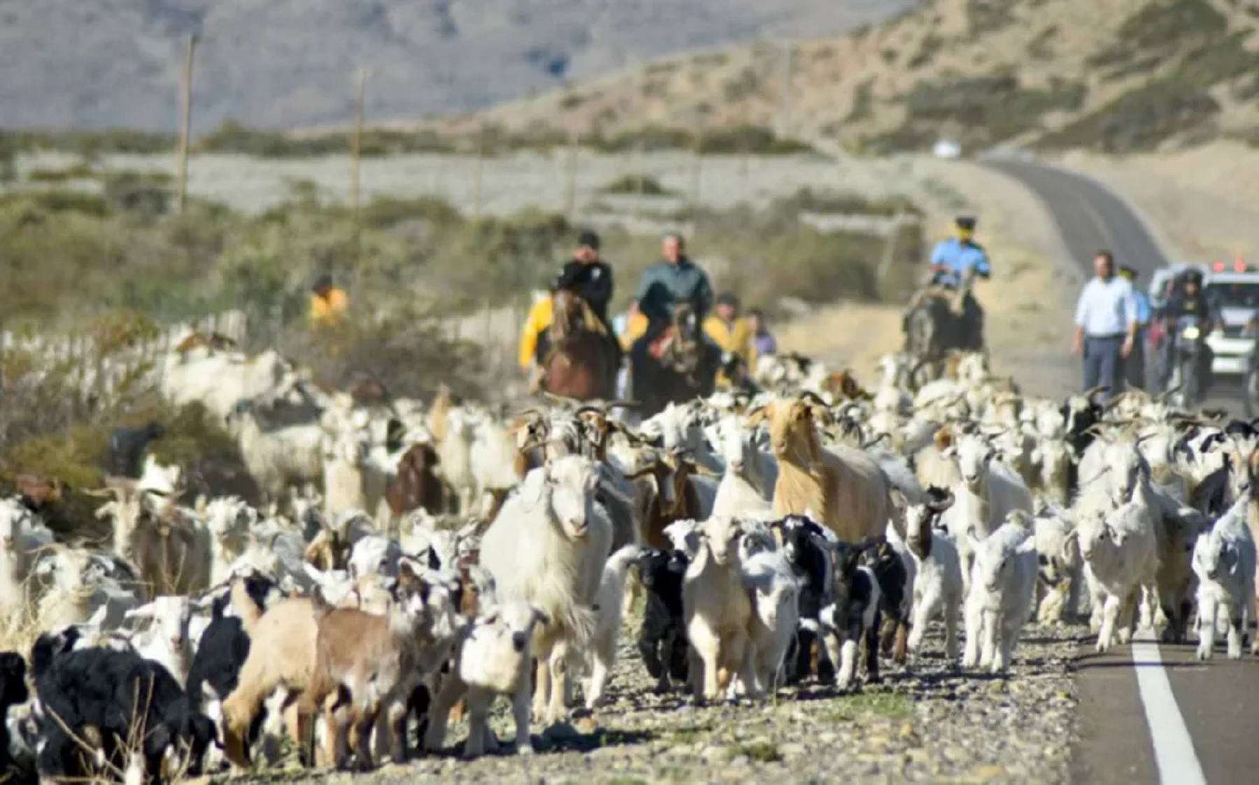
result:
<svg viewBox="0 0 1259 785"><path fill-rule="evenodd" d="M1084 356L1084 389L1098 385L1110 395L1123 391L1123 361L1137 336L1137 301L1132 284L1114 274L1114 257L1099 250L1093 258L1097 277L1084 284L1075 306L1071 354Z"/></svg>

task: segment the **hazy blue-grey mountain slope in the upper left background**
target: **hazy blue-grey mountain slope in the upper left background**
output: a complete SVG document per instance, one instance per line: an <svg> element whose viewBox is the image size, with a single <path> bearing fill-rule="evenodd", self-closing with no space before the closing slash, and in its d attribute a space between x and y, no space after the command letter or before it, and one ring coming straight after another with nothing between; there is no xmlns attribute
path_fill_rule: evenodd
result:
<svg viewBox="0 0 1259 785"><path fill-rule="evenodd" d="M0 0L0 125L174 130L198 34L195 126L468 111L651 58L837 33L917 0Z"/></svg>

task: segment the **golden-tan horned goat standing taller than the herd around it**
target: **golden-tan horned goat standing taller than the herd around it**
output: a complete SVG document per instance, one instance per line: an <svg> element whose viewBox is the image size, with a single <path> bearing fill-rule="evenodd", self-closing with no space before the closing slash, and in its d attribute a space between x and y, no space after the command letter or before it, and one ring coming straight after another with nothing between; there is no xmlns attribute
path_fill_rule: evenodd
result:
<svg viewBox="0 0 1259 785"><path fill-rule="evenodd" d="M822 449L815 418L825 415L820 404L792 398L749 414L749 428L769 419L778 459L774 515L811 515L845 542L883 535L895 512L890 483L860 449Z"/></svg>

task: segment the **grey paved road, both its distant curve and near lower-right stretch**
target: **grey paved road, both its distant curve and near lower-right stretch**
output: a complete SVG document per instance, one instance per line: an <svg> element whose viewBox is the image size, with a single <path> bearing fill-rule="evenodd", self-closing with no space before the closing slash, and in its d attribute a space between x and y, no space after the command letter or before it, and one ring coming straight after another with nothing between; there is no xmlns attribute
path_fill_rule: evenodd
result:
<svg viewBox="0 0 1259 785"><path fill-rule="evenodd" d="M1139 218L1092 180L1029 162L988 162L1035 191L1058 221L1071 257L1092 264L1099 248L1148 273L1166 263ZM1148 278L1147 278L1148 279ZM1228 785L1259 780L1259 660L1200 663L1192 645L1121 647L1109 655L1083 644L1076 663L1078 782Z"/></svg>

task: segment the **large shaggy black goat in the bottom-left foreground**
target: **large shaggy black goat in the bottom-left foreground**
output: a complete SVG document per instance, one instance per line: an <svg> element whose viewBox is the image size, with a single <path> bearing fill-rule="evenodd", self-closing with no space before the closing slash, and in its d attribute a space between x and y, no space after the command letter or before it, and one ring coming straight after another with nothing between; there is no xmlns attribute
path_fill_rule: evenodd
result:
<svg viewBox="0 0 1259 785"><path fill-rule="evenodd" d="M188 752L189 771L199 774L215 738L214 723L196 711L161 664L132 652L67 652L63 635L42 635L31 663L42 704L40 779L93 777L78 741L88 737L89 727L99 733L104 760L115 772L128 769L128 746L135 745L147 781L162 781L162 759L171 747Z"/></svg>

